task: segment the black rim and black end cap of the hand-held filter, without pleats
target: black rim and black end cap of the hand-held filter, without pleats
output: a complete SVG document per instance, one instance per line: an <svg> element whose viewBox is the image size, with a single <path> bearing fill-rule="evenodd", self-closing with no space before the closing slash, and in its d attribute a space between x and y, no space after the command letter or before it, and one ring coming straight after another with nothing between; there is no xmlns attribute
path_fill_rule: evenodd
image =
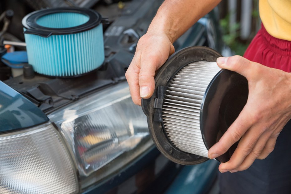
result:
<svg viewBox="0 0 291 194"><path fill-rule="evenodd" d="M149 99L142 99L142 108L147 115L153 142L164 156L178 164L195 165L207 161L208 158L182 151L169 139L169 134L165 130L166 123L163 120L165 99L169 96L169 84L186 65L195 64L199 61L216 62L218 57L221 57L221 54L204 46L188 47L174 53L155 76L153 96ZM242 75L221 69L211 79L201 100L199 113L200 132L207 150L218 142L237 118L247 102L247 97L248 83ZM184 126L186 125L184 124ZM187 144L188 142L182 143ZM216 160L220 162L228 161L236 149L237 143L225 154L217 157Z"/></svg>

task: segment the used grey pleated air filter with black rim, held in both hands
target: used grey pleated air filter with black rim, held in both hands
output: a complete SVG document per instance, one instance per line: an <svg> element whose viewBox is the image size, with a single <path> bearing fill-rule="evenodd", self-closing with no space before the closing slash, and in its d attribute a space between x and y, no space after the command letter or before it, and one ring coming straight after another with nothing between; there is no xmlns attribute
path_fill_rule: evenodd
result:
<svg viewBox="0 0 291 194"><path fill-rule="evenodd" d="M225 133L247 102L247 79L220 69L215 50L195 46L174 53L155 77L150 99L142 100L154 143L170 160L194 165ZM237 143L216 159L229 160Z"/></svg>

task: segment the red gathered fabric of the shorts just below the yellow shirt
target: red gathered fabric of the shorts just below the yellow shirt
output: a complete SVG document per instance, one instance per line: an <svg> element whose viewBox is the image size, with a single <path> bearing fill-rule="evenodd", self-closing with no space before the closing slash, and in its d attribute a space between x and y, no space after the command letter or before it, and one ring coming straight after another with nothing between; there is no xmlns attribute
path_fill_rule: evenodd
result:
<svg viewBox="0 0 291 194"><path fill-rule="evenodd" d="M291 72L291 41L274 38L262 25L244 57L267 67Z"/></svg>

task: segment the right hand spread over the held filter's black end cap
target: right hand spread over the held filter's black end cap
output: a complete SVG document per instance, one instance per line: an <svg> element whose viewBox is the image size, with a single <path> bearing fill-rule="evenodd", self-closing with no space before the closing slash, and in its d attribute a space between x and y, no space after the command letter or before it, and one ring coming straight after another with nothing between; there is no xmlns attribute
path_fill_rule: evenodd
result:
<svg viewBox="0 0 291 194"><path fill-rule="evenodd" d="M273 151L279 133L291 118L291 75L240 56L218 58L217 64L245 76L249 95L238 118L209 149L208 156L216 158L239 141L230 160L219 170L243 171Z"/></svg>

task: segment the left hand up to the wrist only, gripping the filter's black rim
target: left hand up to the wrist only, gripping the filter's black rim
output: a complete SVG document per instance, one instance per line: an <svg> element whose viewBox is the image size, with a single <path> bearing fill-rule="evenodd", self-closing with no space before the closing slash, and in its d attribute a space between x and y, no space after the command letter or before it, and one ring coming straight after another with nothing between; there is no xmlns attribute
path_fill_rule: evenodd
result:
<svg viewBox="0 0 291 194"><path fill-rule="evenodd" d="M174 46L166 34L149 32L139 39L125 74L134 104L141 105L141 98L147 99L153 95L155 72L173 53Z"/></svg>

